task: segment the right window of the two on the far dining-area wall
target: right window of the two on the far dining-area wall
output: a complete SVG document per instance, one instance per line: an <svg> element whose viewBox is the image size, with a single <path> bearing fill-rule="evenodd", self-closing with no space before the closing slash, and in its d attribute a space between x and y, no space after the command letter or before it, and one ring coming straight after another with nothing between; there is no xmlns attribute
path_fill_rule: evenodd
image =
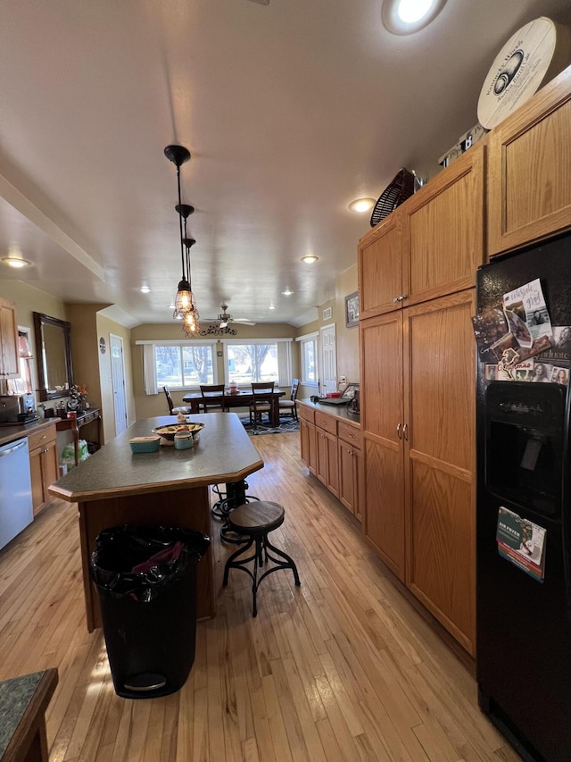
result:
<svg viewBox="0 0 571 762"><path fill-rule="evenodd" d="M250 339L247 344L224 341L224 382L249 386L252 381L292 383L291 339Z"/></svg>

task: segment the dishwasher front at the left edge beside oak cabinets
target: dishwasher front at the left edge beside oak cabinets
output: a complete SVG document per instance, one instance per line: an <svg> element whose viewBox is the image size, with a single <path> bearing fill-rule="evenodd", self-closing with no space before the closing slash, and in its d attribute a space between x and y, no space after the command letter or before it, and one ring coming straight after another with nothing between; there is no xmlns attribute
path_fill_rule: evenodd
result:
<svg viewBox="0 0 571 762"><path fill-rule="evenodd" d="M34 518L28 438L0 447L0 548Z"/></svg>

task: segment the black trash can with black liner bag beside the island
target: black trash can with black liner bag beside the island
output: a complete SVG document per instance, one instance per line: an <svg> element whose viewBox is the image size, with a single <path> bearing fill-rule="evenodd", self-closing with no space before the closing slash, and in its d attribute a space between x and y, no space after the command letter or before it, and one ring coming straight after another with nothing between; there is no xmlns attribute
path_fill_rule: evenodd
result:
<svg viewBox="0 0 571 762"><path fill-rule="evenodd" d="M113 685L124 699L178 691L194 663L196 564L210 539L164 526L116 526L95 540L90 571L99 593Z"/></svg>

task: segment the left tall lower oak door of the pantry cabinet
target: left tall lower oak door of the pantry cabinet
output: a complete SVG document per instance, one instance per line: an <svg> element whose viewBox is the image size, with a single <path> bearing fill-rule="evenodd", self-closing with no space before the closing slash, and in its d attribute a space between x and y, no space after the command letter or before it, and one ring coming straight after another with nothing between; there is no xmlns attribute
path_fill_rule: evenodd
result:
<svg viewBox="0 0 571 762"><path fill-rule="evenodd" d="M360 421L365 450L363 535L404 580L402 312L360 322Z"/></svg>

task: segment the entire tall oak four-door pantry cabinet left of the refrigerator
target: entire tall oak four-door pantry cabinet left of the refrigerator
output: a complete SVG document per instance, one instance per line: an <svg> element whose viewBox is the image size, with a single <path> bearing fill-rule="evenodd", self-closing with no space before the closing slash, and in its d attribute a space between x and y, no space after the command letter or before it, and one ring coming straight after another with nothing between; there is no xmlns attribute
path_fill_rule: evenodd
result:
<svg viewBox="0 0 571 762"><path fill-rule="evenodd" d="M475 312L485 141L360 240L368 545L475 652ZM393 295L387 293L387 285Z"/></svg>

